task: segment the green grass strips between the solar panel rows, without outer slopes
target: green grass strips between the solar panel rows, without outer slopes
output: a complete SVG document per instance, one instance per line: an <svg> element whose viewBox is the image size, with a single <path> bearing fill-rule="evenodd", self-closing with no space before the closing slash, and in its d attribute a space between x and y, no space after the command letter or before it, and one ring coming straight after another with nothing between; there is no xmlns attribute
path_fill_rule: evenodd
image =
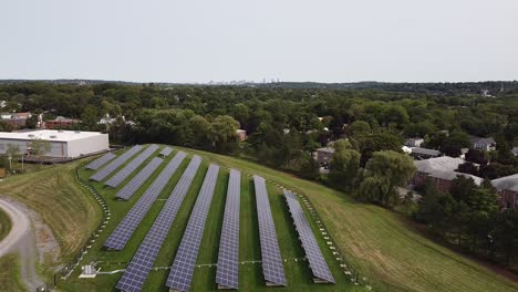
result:
<svg viewBox="0 0 518 292"><path fill-rule="evenodd" d="M176 153L170 155L170 159ZM151 158L149 158L151 159ZM152 184L153 179L159 174L163 167L166 165L165 161L159 169L157 169L152 178L143 186L137 194L130 201L120 201L114 199L116 191L122 186L131 180L134 175L127 178L127 181L122 184L121 187L112 189L105 188L100 182L92 182L92 185L106 198L110 209L112 210L112 218L106 226L105 232L93 244L93 248L86 254L85 260L82 264L87 262L97 262L102 268L102 271L114 271L124 269L127 262L132 259L141 241L144 239L147 230L153 225L155 218L159 213L165 200L172 192L176 181L179 179L183 170L188 165L190 157L185 159L179 169L173 176L173 179L162 191L159 198L149 212L139 225L131 241L123 251L106 251L102 248L102 244L115 229L117 223L123 219L125 213L143 195L148 185ZM190 211L195 205L199 188L204 180L207 171L209 159L204 159L193 185L184 200L184 204L169 230L169 233L163 244L158 258L155 262L155 268L166 268L172 265L176 250L182 241L183 233L186 229ZM93 171L82 169L80 175L83 178L87 178ZM197 263L203 267L196 268L193 279L193 291L214 291L217 290L215 278L216 267L219 247L219 236L221 230L221 223L225 210L225 199L228 184L228 169L221 168L216 190L210 206L201 247L197 258ZM353 285L350 282L349 277L343 274L338 262L334 261L331 251L325 248L323 238L320 239L322 251L331 265L333 274L336 279L335 285L314 284L311 282L311 274L307 262L301 261L303 251L298 240L298 234L293 228L288 208L281 196L281 190L274 187L272 184L268 184L268 190L270 196L270 204L273 210L273 220L276 223L277 233L279 237L279 243L281 248L281 254L286 259L284 270L288 279L288 288L277 288L276 291L355 291L362 290ZM240 290L241 291L271 291L271 288L267 288L262 280L262 270L260 263L255 261L260 260L260 247L259 247L259 230L257 222L257 210L256 199L253 192L253 186L251 177L241 177L241 212L240 212L240 261L242 261L239 273L240 273ZM313 225L317 231L317 227ZM116 282L118 281L122 273L115 274L101 274L97 278L91 280L77 279L75 275L79 271L65 282L59 284L59 289L62 291L113 291ZM165 281L168 275L167 269L158 269L152 271L147 281L144 284L144 291L167 291Z"/></svg>

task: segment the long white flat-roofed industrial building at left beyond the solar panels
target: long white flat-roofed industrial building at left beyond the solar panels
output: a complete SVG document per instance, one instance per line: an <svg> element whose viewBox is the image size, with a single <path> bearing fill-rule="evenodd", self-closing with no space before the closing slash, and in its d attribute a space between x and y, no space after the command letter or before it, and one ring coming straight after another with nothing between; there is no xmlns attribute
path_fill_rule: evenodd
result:
<svg viewBox="0 0 518 292"><path fill-rule="evenodd" d="M22 154L31 153L34 139L50 142L48 157L75 158L84 155L106 152L110 149L108 135L100 132L80 132L61 129L41 129L30 132L0 132L0 154L4 154L8 145L15 145Z"/></svg>

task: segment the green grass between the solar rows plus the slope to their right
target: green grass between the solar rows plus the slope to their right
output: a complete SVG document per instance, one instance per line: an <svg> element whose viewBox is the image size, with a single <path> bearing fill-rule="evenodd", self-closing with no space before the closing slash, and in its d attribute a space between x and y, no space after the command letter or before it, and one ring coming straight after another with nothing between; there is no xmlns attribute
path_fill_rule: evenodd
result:
<svg viewBox="0 0 518 292"><path fill-rule="evenodd" d="M380 207L355 204L340 191L255 163L199 150L175 148L201 155L204 163L162 247L155 268L165 268L173 263L208 164L211 161L224 167L237 168L242 173L240 213L240 260L242 263L239 269L239 289L241 291L353 291L363 289L351 284L350 278L343 273L339 262L334 259L335 255L327 247L309 210L304 208L323 254L336 279L335 285L311 282L311 272L307 262L300 261L303 257L303 250L298 234L281 196L281 189L276 187L276 184L303 194L310 199L344 255L345 262L354 270L360 271L360 278L370 283L375 291L518 290L517 283L421 236L416 232L417 226L403 216ZM175 154L170 155L167 160L172 159ZM112 218L82 264L95 261L102 271L124 269L159 213L165 199L173 190L189 159L190 156L183 161L123 251L105 251L102 244L167 161L127 202L115 200L114 195L137 171L116 189L105 188L102 184L94 182L96 189L106 198ZM92 173L82 169L81 176L86 179ZM262 280L260 264L253 262L260 260L261 253L255 191L251 177L247 174L260 175L268 181L267 187L281 254L286 259L283 264L288 288L267 288ZM227 180L228 170L221 168L197 259L197 263L201 267L195 270L193 291L216 290L216 268L214 264L217 262ZM114 291L114 286L122 275L122 273L100 274L95 279L82 280L76 278L77 274L79 271L66 282L61 282L59 289L62 291ZM144 291L167 291L165 286L167 274L167 269L152 271L145 282Z"/></svg>

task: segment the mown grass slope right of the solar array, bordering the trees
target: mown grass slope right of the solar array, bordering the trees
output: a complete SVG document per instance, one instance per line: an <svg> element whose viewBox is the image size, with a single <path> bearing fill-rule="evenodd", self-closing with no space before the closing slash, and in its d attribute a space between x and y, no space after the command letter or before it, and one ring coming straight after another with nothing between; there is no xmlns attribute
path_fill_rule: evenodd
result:
<svg viewBox="0 0 518 292"><path fill-rule="evenodd" d="M260 175L308 196L345 260L360 271L361 278L371 279L375 290L518 290L516 282L421 236L415 231L416 225L403 216L376 206L353 202L340 191L248 160L199 150L188 152L222 166ZM280 226L278 220L276 227Z"/></svg>

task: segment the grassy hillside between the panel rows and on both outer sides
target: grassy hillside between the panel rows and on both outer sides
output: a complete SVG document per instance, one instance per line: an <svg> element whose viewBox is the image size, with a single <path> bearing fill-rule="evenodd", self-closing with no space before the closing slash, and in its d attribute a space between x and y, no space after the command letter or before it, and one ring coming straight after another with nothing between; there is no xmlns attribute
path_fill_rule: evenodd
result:
<svg viewBox="0 0 518 292"><path fill-rule="evenodd" d="M294 260L303 257L303 250L297 240L298 234L289 217L286 202L280 196L281 191L276 185L304 194L310 199L330 234L335 240L339 250L344 254L345 261L351 268L358 270L360 278L362 280L365 278L363 281L371 284L375 291L516 291L518 289L517 283L426 239L416 232L414 223L383 208L355 204L345 194L251 161L188 148L175 147L175 149L188 153L189 157L194 154L200 155L204 158L204 163L169 230L165 240L167 244L163 246L155 267L170 265L208 164L215 163L224 168L221 168L218 176L215 199L210 207L209 220L207 221L198 263L215 263L217 261L219 232L222 222L222 210L225 208L224 198L228 180L228 170L225 167L232 167L241 170L244 175L240 217L242 227L240 252L244 260L253 261L260 259L253 186L248 176L255 174L268 180L268 190L270 192L270 202L281 246L281 253L286 258ZM174 154L167 159L170 159L173 156ZM174 174L172 180L167 184L164 191L162 191L158 200L155 201L148 215L137 228L125 250L121 252L103 250L102 243L143 194L144 189L151 185L151 181L145 182L127 202L113 198L118 188L105 188L101 182L94 182L93 185L96 189L107 199L112 218L101 234L100 240L93 244L81 264L96 261L101 264L104 272L124 269L164 206L165 199L178 181L188 164L188 159L184 160ZM4 185L1 185L2 187L0 188L1 192L22 200L40 213L54 231L60 246L65 247L64 249L62 248L64 258L70 258L76 252L76 249L84 242L82 239L90 234L90 228L95 226L100 218L99 208L94 205L95 201L89 197L89 194L83 192L73 179L74 168L80 165L84 165L84 161L21 175L15 177L15 179L13 178L9 184L4 181ZM80 170L80 175L83 178L87 178L92 173L85 169ZM138 173L138 169L136 173ZM123 185L135 174L130 176ZM153 177L156 176L157 174L155 173ZM28 187L35 191L29 191ZM89 225L85 226L84 222L86 221ZM314 222L312 222L312 228L315 228ZM70 232L73 232L73 237L68 236ZM284 263L289 282L288 289L284 290L358 290L358 286L351 285L348 277L340 273L340 267L333 260L330 251L323 249L325 244L321 240L320 244L328 263L331 265L333 275L336 278L336 285L315 286L315 284L311 284L308 278L310 270L307 264L289 261ZM61 291L113 291L114 285L122 275L121 273L114 273L101 274L96 279L77 279L79 272L79 269L76 269L75 273L66 281L59 280L58 288ZM215 273L216 269L211 268L211 265L196 269L194 279L195 291L214 290ZM240 273L241 277L247 279L246 281L240 281L240 290L270 290L263 285L259 265L244 264L240 267ZM158 269L153 271L146 281L145 288L152 291L163 291L166 277L167 270Z"/></svg>

